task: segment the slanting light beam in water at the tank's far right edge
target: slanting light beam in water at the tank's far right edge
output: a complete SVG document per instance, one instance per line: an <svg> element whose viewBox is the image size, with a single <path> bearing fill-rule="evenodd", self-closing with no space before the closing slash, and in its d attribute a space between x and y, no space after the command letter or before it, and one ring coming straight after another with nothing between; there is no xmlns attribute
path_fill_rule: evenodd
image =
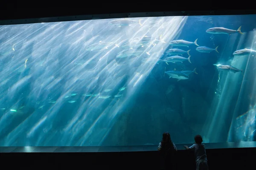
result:
<svg viewBox="0 0 256 170"><path fill-rule="evenodd" d="M250 49L255 48L256 32L250 31L248 33L249 40L247 40L247 47ZM245 57L245 56L241 56ZM246 71L244 79L241 84L241 91L239 93L239 99L233 114L232 124L230 126L228 141L253 141L256 130L256 77L255 77L255 66L256 62L253 60L255 56L250 54L248 56L247 67L250 71ZM252 82L252 83L250 83ZM250 94L245 96L245 94ZM248 105L249 101L249 105ZM241 107L247 106L248 111L241 115ZM238 116L240 115L240 116ZM235 137L234 137L235 136Z"/></svg>

